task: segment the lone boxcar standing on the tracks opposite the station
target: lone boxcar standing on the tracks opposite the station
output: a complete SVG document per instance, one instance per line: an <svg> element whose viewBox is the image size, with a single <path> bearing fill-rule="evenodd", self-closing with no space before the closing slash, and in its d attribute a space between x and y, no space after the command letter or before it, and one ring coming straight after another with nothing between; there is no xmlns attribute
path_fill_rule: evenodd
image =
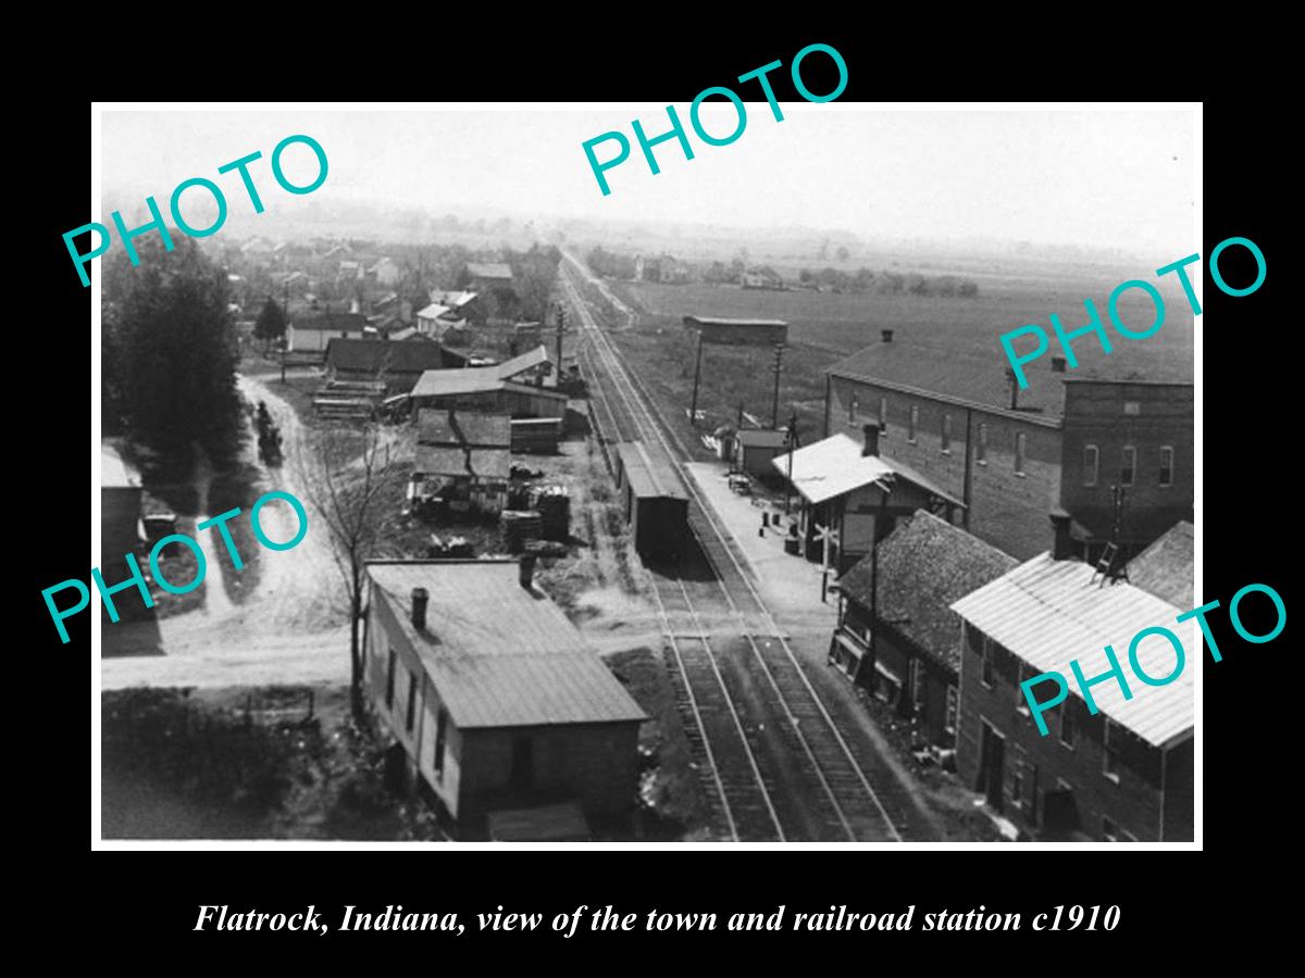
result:
<svg viewBox="0 0 1305 978"><path fill-rule="evenodd" d="M684 559L689 497L671 460L643 442L617 445L616 456L616 486L634 549L652 561Z"/></svg>

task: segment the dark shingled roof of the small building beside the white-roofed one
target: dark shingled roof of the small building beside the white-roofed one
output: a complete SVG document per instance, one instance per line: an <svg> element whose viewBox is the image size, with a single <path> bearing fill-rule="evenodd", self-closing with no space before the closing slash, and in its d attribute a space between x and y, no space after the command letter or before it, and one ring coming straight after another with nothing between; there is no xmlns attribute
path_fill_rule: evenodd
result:
<svg viewBox="0 0 1305 978"><path fill-rule="evenodd" d="M873 558L838 579L839 591L869 608ZM878 617L936 661L959 670L960 618L949 605L1013 570L1018 561L960 527L916 510L880 541Z"/></svg>

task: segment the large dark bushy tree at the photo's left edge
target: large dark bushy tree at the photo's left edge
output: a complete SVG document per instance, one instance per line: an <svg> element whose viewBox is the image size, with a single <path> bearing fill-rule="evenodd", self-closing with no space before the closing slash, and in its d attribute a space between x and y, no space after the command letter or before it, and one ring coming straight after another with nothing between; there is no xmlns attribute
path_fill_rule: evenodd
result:
<svg viewBox="0 0 1305 978"><path fill-rule="evenodd" d="M104 275L106 403L133 441L164 455L198 442L222 454L240 430L235 329L227 275L200 246L174 236L137 239L140 265L114 252Z"/></svg>

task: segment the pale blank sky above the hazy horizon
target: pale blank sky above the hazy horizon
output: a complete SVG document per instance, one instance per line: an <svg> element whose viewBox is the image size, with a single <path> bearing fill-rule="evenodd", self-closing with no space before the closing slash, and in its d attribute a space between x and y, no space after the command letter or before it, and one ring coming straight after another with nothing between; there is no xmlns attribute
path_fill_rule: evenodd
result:
<svg viewBox="0 0 1305 978"><path fill-rule="evenodd" d="M867 240L977 236L1121 248L1165 262L1194 243L1195 110L887 111L780 102L783 121L766 102L745 110L743 134L710 146L694 133L689 106L676 104L694 158L685 159L676 140L660 143L654 176L630 123L641 120L649 138L667 132L659 104L106 106L100 172L106 190L154 194L164 210L174 186L204 176L239 211L249 207L239 176L219 176L218 167L260 150L251 173L268 207L268 233L277 213L315 200L392 202L436 215L485 207L587 220L803 226ZM718 99L703 103L701 121L722 137L737 115ZM607 171L612 192L603 196L582 143L611 130L625 134L630 156ZM312 194L296 197L277 186L269 156L299 133L321 143L329 173ZM599 160L617 150L615 141L595 147ZM284 163L296 181L316 172L304 146L287 150Z"/></svg>

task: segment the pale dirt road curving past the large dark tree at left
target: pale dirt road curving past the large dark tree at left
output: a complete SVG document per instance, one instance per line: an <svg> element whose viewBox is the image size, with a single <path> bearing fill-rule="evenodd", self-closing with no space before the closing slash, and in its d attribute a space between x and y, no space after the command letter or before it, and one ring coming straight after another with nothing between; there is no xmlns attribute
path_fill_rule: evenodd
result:
<svg viewBox="0 0 1305 978"><path fill-rule="evenodd" d="M311 450L307 432L291 407L257 377L243 377L240 391L266 403L282 433L284 463L260 466L260 488L298 498L308 512L308 533L291 550L262 549L257 591L243 604L232 604L222 587L224 569L218 558L223 544L211 531L201 532L207 558L206 608L175 618L103 625L103 689L348 679L342 579L326 523L303 485L305 452ZM206 509L211 479L206 464L196 467L194 479L201 507ZM248 518L248 512L236 516ZM271 540L290 540L298 529L294 510L282 501L262 509L260 524Z"/></svg>

